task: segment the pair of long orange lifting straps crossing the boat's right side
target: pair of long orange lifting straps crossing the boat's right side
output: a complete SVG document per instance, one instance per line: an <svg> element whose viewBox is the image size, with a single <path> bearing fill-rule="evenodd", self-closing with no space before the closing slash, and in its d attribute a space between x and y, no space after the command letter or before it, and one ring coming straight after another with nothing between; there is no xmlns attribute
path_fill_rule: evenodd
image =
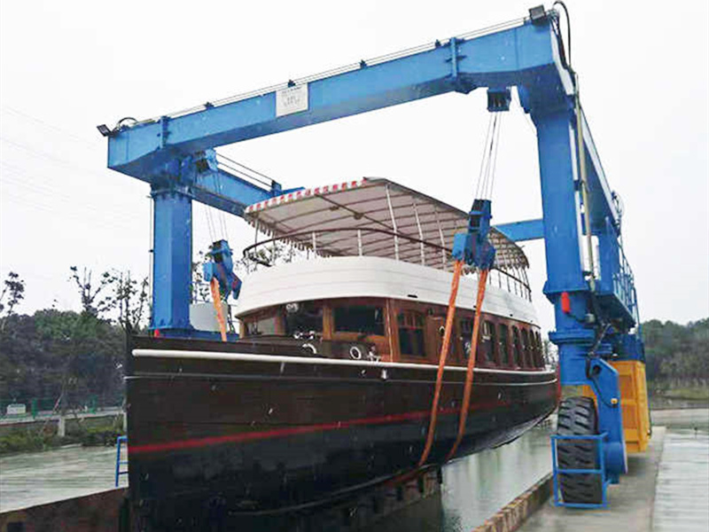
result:
<svg viewBox="0 0 709 532"><path fill-rule="evenodd" d="M446 460L449 460L456 454L458 445L463 439L465 433L465 422L468 419L468 409L471 403L471 392L472 392L472 376L475 369L475 355L478 349L478 332L480 325L480 314L482 312L482 301L485 298L485 286L487 284L487 271L482 270L479 274L478 280L478 299L475 306L475 320L472 326L472 339L471 339L471 352L468 356L468 371L465 375L465 387L463 394L463 404L460 411L460 420L458 424L458 434L456 437L456 442L453 444L453 448L448 452ZM433 438L436 433L436 424L438 423L438 410L440 403L440 389L443 386L443 373L446 368L446 359L448 358L448 351L450 350L450 337L453 333L453 320L456 316L456 297L458 295L458 286L460 285L460 276L463 272L463 262L456 261L453 270L453 281L450 286L450 297L448 298L448 312L446 314L446 329L443 334L443 344L440 346L440 356L438 364L438 374L436 375L436 386L433 392L433 403L431 405L431 419L428 425L428 434L426 436L426 443L424 447L424 452L421 454L421 458L418 460L418 466L425 464L431 453L431 448L433 445Z"/></svg>

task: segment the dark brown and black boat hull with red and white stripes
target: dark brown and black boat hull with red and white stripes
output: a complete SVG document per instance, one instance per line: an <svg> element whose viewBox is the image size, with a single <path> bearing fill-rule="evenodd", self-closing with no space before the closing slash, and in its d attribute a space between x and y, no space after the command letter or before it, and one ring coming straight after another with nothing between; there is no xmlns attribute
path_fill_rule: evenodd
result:
<svg viewBox="0 0 709 532"><path fill-rule="evenodd" d="M249 356L241 342L136 339L132 347L140 356L129 356L127 379L130 492L153 516L210 504L302 507L417 467L430 366ZM429 464L453 445L464 376L446 371ZM476 372L456 457L510 442L555 406L549 372Z"/></svg>

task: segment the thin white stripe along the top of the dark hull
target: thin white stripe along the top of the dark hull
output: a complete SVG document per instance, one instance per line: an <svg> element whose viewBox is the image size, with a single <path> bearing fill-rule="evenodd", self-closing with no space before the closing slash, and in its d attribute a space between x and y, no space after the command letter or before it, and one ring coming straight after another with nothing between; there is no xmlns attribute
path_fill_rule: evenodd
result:
<svg viewBox="0 0 709 532"><path fill-rule="evenodd" d="M433 364L411 364L407 362L370 362L367 360L342 360L338 358L318 358L316 356L278 356L278 355L253 355L249 353L217 353L214 351L183 351L179 349L133 349L133 356L154 356L159 358L201 358L207 360L239 360L243 362L267 362L271 364L321 364L321 365L346 365L370 368L403 368L412 370L437 371L438 366ZM460 366L446 366L447 371L467 372L467 368ZM506 375L553 375L550 370L534 370L519 372L516 370L494 370L490 368L475 368L479 373L504 373Z"/></svg>

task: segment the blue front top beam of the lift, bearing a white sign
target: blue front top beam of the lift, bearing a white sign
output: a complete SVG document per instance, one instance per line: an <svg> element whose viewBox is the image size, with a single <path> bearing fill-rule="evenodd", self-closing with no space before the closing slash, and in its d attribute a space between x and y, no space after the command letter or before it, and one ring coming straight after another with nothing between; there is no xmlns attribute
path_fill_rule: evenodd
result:
<svg viewBox="0 0 709 532"><path fill-rule="evenodd" d="M150 181L175 157L421 98L524 85L531 106L563 106L573 92L554 30L525 21L478 37L325 75L223 105L114 130L108 166ZM307 78L306 78L307 79Z"/></svg>

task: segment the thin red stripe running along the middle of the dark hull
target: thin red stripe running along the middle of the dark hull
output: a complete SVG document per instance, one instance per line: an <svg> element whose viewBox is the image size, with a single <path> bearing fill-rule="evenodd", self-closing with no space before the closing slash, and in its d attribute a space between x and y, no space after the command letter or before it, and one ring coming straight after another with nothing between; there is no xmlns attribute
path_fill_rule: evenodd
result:
<svg viewBox="0 0 709 532"><path fill-rule="evenodd" d="M506 402L478 403L471 406L470 410L489 410L496 407L503 407L508 405L509 403ZM440 410L440 415L457 414L458 412L459 409L456 408L445 408ZM404 412L401 414L390 414L387 416L380 416L378 418L347 419L347 421L323 423L320 425L288 426L284 428L276 428L273 430L265 430L252 433L225 434L222 436L193 438L190 440L180 440L176 442L148 443L145 445L130 445L129 442L129 453L138 454L167 450L194 449L197 447L205 447L206 445L219 445L221 443L253 442L257 440L267 440L270 438L283 438L286 436L294 436L298 434L310 434L327 430L340 430L343 428L349 428L351 426L386 425L388 423L396 423L398 421L425 419L429 418L430 416L430 411L411 411Z"/></svg>

